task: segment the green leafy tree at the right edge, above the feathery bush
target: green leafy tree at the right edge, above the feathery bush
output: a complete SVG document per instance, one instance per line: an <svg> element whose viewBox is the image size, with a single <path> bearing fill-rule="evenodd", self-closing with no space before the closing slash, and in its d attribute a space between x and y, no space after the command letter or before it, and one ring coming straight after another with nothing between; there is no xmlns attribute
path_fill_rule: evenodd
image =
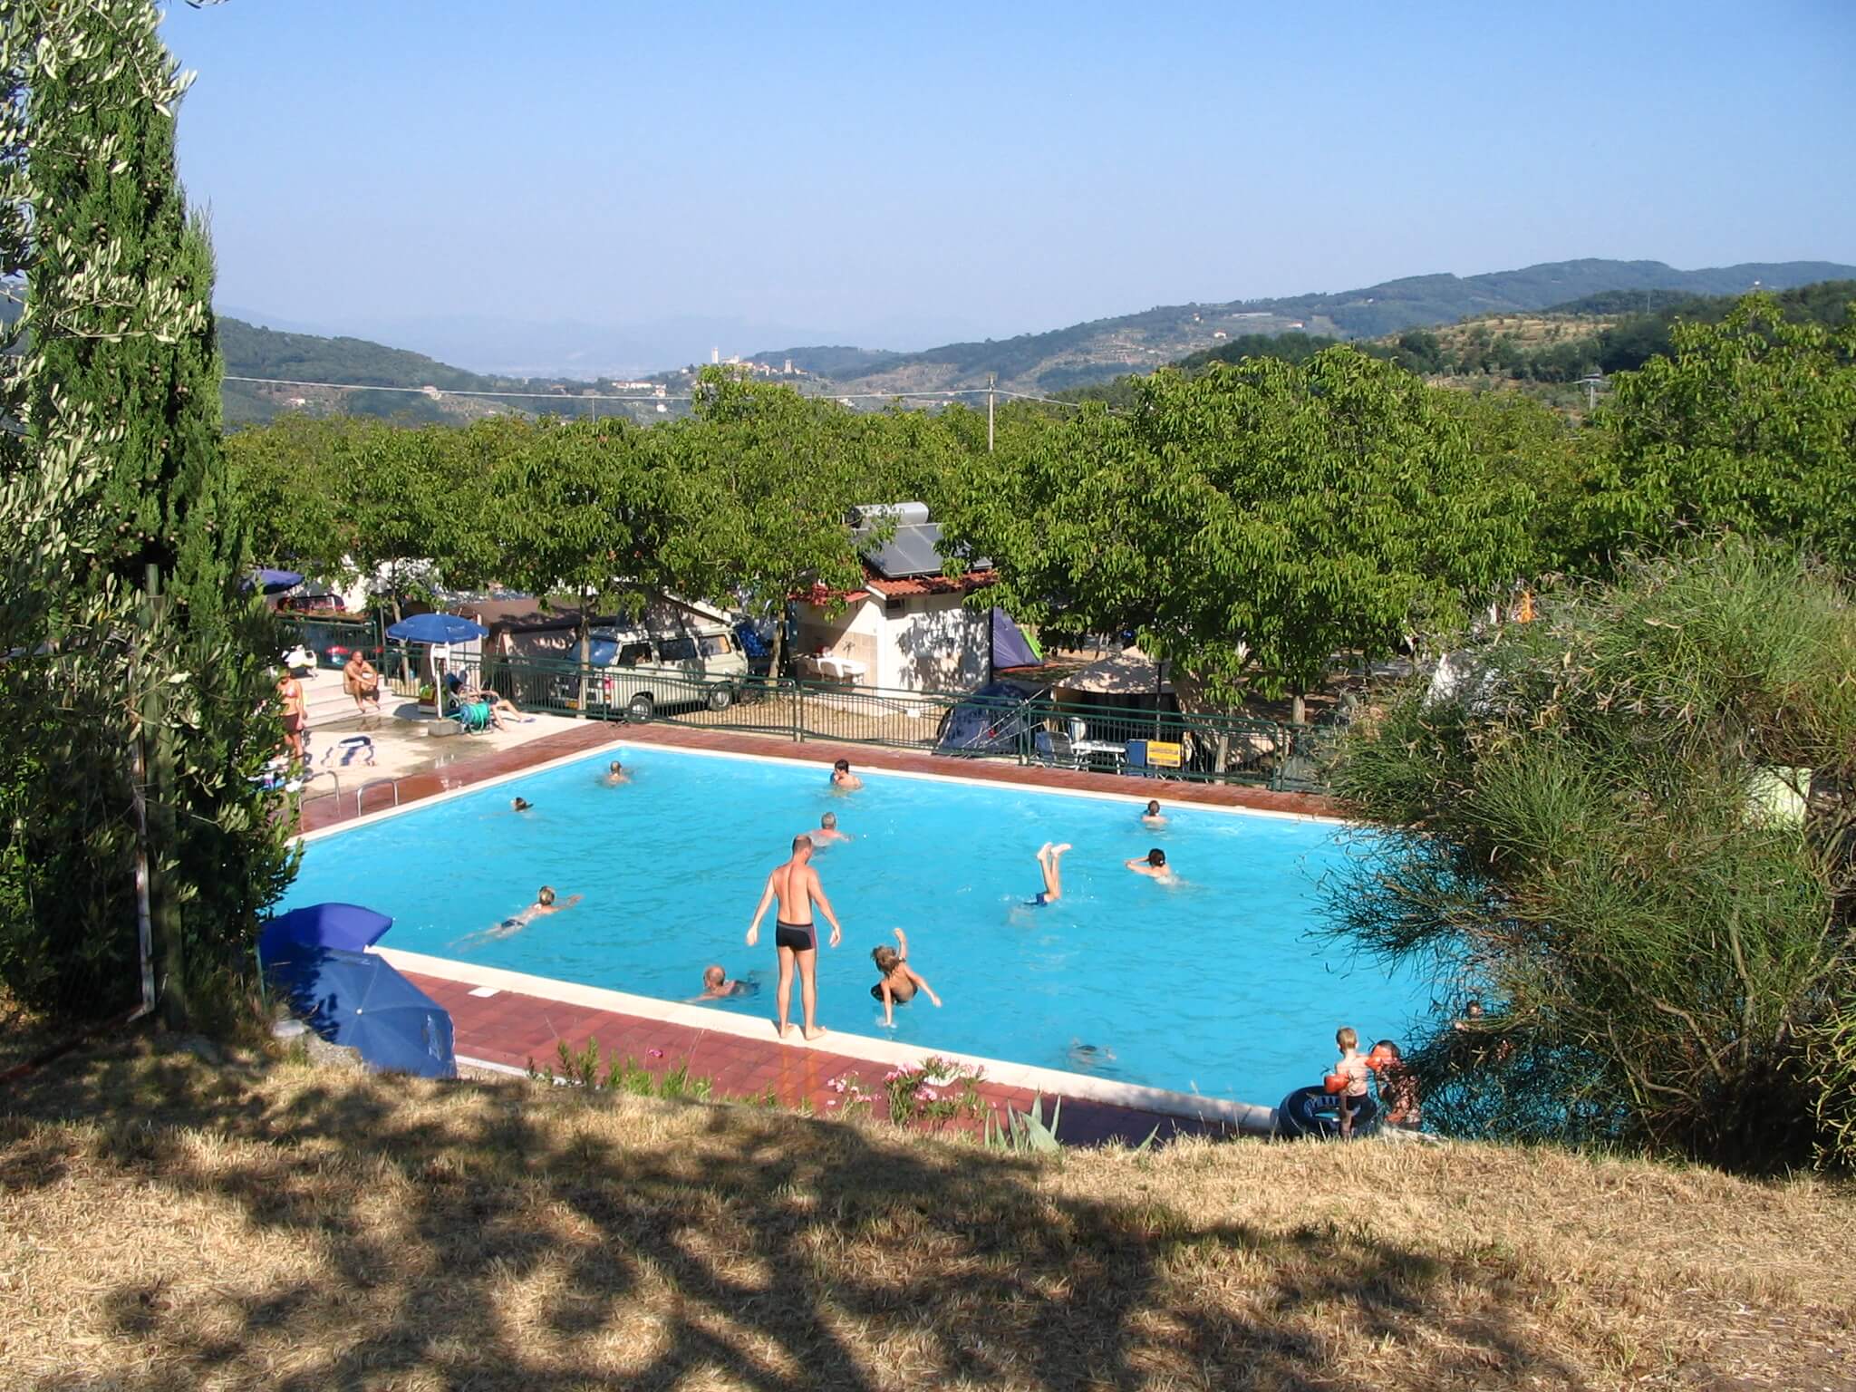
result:
<svg viewBox="0 0 1856 1392"><path fill-rule="evenodd" d="M1592 421L1587 564L1728 527L1856 572L1856 314L1789 323L1748 295L1670 340L1669 356L1613 379Z"/></svg>

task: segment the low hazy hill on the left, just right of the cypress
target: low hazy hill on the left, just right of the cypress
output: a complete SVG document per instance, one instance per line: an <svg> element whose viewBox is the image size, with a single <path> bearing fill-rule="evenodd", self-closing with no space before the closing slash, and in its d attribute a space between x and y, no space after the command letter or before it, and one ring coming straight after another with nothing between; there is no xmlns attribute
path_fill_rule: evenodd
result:
<svg viewBox="0 0 1856 1392"><path fill-rule="evenodd" d="M590 382L564 379L484 377L434 362L421 353L373 343L366 338L321 338L258 329L243 319L219 316L219 351L226 377L271 377L288 382L332 382L342 386L434 388L434 392L342 392L325 386L271 386L234 382L223 386L226 425L252 425L290 410L316 416L392 416L399 419L466 421L496 412L581 414L590 403L577 403ZM481 397L444 395L451 392L546 393Z"/></svg>

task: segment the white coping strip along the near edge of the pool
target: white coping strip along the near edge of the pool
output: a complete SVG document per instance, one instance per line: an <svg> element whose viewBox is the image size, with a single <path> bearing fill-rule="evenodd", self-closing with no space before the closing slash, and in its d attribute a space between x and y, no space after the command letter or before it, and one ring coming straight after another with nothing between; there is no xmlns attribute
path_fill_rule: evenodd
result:
<svg viewBox="0 0 1856 1392"><path fill-rule="evenodd" d="M742 1039L757 1039L776 1049L815 1049L887 1067L913 1067L926 1058L948 1058L965 1067L980 1069L987 1082L997 1082L1004 1088L1028 1088L1045 1097L1073 1097L1076 1101L1106 1102L1138 1112L1158 1112L1169 1117L1223 1123L1245 1136L1270 1136L1275 1132L1275 1108L1271 1106L1229 1102L1221 1097L1177 1093L1166 1088L1143 1088L1132 1082L1095 1078L1088 1073L1065 1073L1062 1069L1013 1063L1002 1058L980 1058L976 1054L958 1054L948 1049L926 1049L895 1039L874 1039L863 1034L841 1034L839 1030L831 1030L817 1043L781 1041L774 1038L772 1021L757 1015L735 1015L726 1010L659 1000L655 997L612 991L603 986L581 986L579 982L562 982L551 976L531 976L529 973L505 971L503 967L484 967L475 961L432 958L423 952L401 952L390 947L373 947L369 950L379 952L392 967L418 973L419 976L436 976L438 980L464 986L488 986L497 991L514 991L542 1000L559 1000L566 1006L586 1006L588 1010L607 1010L666 1025L683 1025L711 1034L731 1034ZM497 1073L510 1071L509 1065L486 1063L483 1060L466 1058L460 1062Z"/></svg>

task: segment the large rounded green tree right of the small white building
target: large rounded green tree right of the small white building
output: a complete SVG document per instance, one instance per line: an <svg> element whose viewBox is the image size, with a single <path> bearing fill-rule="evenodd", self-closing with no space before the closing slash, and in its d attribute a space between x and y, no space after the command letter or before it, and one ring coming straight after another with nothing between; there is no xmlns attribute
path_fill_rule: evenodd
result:
<svg viewBox="0 0 1856 1392"><path fill-rule="evenodd" d="M948 512L999 601L1063 633L1136 629L1212 702L1297 698L1511 583L1526 494L1416 377L1353 349L1136 384L976 464Z"/></svg>

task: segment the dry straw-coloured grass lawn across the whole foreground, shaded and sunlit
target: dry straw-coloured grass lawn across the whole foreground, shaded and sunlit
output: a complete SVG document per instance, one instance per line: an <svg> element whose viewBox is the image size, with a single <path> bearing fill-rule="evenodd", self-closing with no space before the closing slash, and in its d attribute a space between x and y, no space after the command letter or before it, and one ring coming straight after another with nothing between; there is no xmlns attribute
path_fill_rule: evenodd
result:
<svg viewBox="0 0 1856 1392"><path fill-rule="evenodd" d="M522 1080L0 1093L7 1388L1847 1388L1856 1193L1546 1151L1062 1164Z"/></svg>

